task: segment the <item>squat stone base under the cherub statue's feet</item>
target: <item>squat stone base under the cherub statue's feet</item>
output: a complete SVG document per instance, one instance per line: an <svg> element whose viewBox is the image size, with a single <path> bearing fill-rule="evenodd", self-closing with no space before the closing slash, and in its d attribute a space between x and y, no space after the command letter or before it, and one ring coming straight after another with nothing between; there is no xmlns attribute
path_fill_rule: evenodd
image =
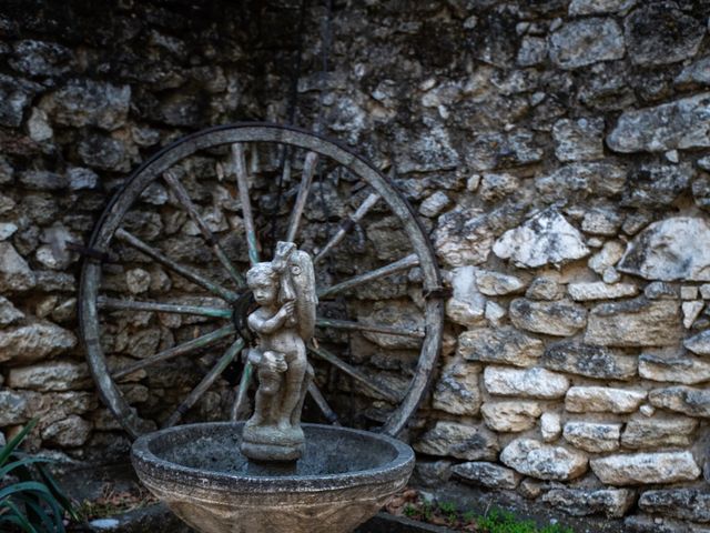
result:
<svg viewBox="0 0 710 533"><path fill-rule="evenodd" d="M252 461L297 461L305 452L301 426L278 429L275 425L252 425L242 432L241 452Z"/></svg>

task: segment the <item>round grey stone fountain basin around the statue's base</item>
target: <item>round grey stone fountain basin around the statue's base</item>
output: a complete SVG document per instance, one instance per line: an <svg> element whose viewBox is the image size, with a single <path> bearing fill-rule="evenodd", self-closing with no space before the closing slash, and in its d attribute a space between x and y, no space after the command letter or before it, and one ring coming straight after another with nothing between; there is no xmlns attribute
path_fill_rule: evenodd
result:
<svg viewBox="0 0 710 533"><path fill-rule="evenodd" d="M303 424L295 463L240 453L243 422L180 425L141 436L132 462L143 484L204 533L341 533L373 516L405 486L414 452L396 439Z"/></svg>

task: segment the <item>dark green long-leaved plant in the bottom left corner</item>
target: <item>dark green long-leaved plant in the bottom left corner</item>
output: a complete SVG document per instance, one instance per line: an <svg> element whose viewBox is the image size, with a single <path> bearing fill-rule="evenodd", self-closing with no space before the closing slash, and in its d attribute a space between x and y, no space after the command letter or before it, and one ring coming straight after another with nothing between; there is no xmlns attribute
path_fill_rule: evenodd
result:
<svg viewBox="0 0 710 533"><path fill-rule="evenodd" d="M37 419L31 420L0 451L0 530L4 524L26 533L64 533L64 513L77 515L45 467L51 461L18 451L36 425Z"/></svg>

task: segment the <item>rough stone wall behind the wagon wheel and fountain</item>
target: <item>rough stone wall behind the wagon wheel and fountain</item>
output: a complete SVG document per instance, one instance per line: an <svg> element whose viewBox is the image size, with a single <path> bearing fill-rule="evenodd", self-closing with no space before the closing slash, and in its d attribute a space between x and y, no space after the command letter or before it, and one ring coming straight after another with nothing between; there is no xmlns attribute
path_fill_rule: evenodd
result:
<svg viewBox="0 0 710 533"><path fill-rule="evenodd" d="M77 346L78 258L53 243L84 241L159 145L286 120L300 2L52 3L0 8L0 426L41 414L37 445L82 457L121 441ZM709 9L335 2L327 77L307 11L296 122L322 103L328 134L394 168L453 291L420 480L635 531L710 521ZM371 349L352 360L396 382Z"/></svg>

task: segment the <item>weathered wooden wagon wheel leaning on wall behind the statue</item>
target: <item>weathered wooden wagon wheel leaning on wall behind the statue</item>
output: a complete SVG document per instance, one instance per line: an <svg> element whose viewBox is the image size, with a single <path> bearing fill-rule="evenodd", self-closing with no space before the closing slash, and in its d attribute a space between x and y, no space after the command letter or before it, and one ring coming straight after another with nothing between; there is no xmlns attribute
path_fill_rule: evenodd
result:
<svg viewBox="0 0 710 533"><path fill-rule="evenodd" d="M232 418L236 419L240 414L244 414L243 408L252 380L252 369L247 363L240 364L239 359L240 352L246 343L244 331L240 329L240 314L243 315L250 296L248 290L244 285L244 272L250 264L254 264L260 259L268 259L260 258L260 253L266 254L260 250L254 217L256 210L252 209L253 198L250 198L250 181L253 181L261 172L256 158L262 153L260 150L263 147L272 152L277 149L282 150L282 154L283 150L290 150L292 155L300 154L298 159L303 155L296 198L292 207L291 204L284 205L291 211L290 214L286 213L283 217L287 219L287 232L285 235L277 235L280 240L294 241L301 245L298 232L301 227L305 225L302 221L304 211L308 215L308 197L314 189L314 175L318 165L321 169L324 165L345 169L351 177L347 183L352 184L352 190L359 190L358 203L353 207L354 212L342 220L339 229L331 235L325 235L323 245L307 250L314 255L316 273L320 266L323 268L327 264L328 255L333 253L333 250L338 244L342 245L345 239L352 238L348 232L371 210L379 209L382 211L383 207L388 209L389 215L394 214L394 220L398 220L400 230L410 243L413 253L409 252L394 262L377 265L365 273L355 272L355 275L345 280L336 280L327 283L327 286L320 286L318 296L322 302L327 302L328 299L336 295L353 294L354 290L365 286L364 284L377 282L377 280L393 274L402 275L407 272L412 274L413 269L418 266L417 275L409 278L419 280L422 284L417 298L422 313L422 328L322 318L318 319L318 331L316 331L316 338L320 331L357 331L366 334L389 335L393 339L404 338L407 339L407 342L416 342L420 345L420 350L412 379L405 390L395 391L377 379L373 379L357 364L349 363L326 350L322 343L317 342L317 339L310 346L312 358L316 361L323 360L331 363L337 369L337 372L348 375L354 382L357 382L358 386L371 391L374 398L390 405L393 409L382 426L382 431L388 434L396 435L405 428L407 420L417 409L428 388L442 342L440 278L432 245L409 204L371 163L347 148L296 128L267 123L237 123L203 130L185 137L143 163L112 199L92 234L90 242L92 254L87 257L81 276L79 302L81 335L103 402L132 436L149 431L151 425L146 424L136 409L131 405L132 399L128 398L130 393L126 392L125 381L135 382L138 380L140 382L141 375L143 375L141 373L164 365L166 361L172 363L174 358L196 356L196 354L205 352L214 356L220 345L222 349L219 350L219 356L211 361L213 364L211 370L186 394L186 398L182 399L173 414L163 422L163 425L179 423L230 365L236 365L242 372L241 378L234 381ZM251 154L251 164L247 163L245 157L247 152ZM221 179L221 183L232 189L232 194L226 201L234 202L237 207L233 211L240 212L242 215L241 219L234 215L236 225L240 225L239 230L242 232L241 251L235 251L233 242L235 228L230 228L229 231L220 231L224 230L223 227L215 228L214 220L210 219L210 213L205 214L197 201L191 198L189 187L185 183L191 179L190 175L180 177L181 162L196 157L197 153L210 153L211 157L224 159L223 165L219 163L216 165L217 178ZM285 162L284 172L290 172L290 159L285 159ZM293 165L294 174L296 174L298 167L296 161L296 164ZM225 168L233 169L233 171L224 172ZM194 184L194 182L189 184ZM146 197L146 194L151 190L155 192L156 188L158 197L161 200L151 202L151 197ZM168 191L170 192L168 193ZM312 193L311 197L313 195ZM364 200L361 200L362 198ZM261 202L263 199L258 200ZM202 239L202 242L206 244L205 249L210 250L215 258L215 263L221 266L205 272L200 264L203 263L202 266L204 266L205 260L203 258L193 258L191 264L171 259L162 248L165 239L160 234L160 228L149 237L141 238L140 232L146 231L143 228L144 224L136 225L134 221L132 222L132 217L136 210L140 211L142 204L145 205L142 203L145 201L153 204L169 202L168 205L182 212L184 223L190 224L191 231L189 233L194 239ZM165 205L163 207L168 209ZM175 214L173 211L171 213L172 218L179 218L180 213ZM183 228L185 227L183 225ZM232 241L229 241L230 238ZM184 301L165 301L164 299L161 301L155 295L151 296L152 290L141 288L142 281L140 279L134 280L134 284L138 285L135 290L126 291L125 286L116 288L116 283L110 280L111 272L118 269L118 272L125 273L122 264L132 264L133 261L142 261L139 264L149 264L149 268L164 268L171 273L172 279L182 280L181 283L187 282L186 286L192 290L202 290L211 299L201 296L197 298L197 303L193 304ZM217 270L220 272L216 272ZM129 274L131 272L135 271L130 271ZM331 280L333 273L318 275L320 281L325 278ZM129 285L129 288L132 286ZM121 320L124 322L139 319L150 321L155 320L155 316L175 316L175 320L207 320L212 322L204 325L211 328L209 331L202 331L192 339L169 343L166 346L159 345L156 342L148 343L154 348L155 353L132 353L138 359L130 359L112 355L112 350L115 351L115 345L120 344L115 339L123 334L116 334L115 339L111 336L112 332L118 331L118 326L111 325L114 316L122 316ZM215 321L222 322L213 324ZM197 325L194 328L199 329ZM125 336L126 334L123 334L123 338ZM112 340L106 341L106 339ZM106 349L106 343L113 343L112 348ZM313 385L310 393L325 418L335 422L336 414L317 386Z"/></svg>

